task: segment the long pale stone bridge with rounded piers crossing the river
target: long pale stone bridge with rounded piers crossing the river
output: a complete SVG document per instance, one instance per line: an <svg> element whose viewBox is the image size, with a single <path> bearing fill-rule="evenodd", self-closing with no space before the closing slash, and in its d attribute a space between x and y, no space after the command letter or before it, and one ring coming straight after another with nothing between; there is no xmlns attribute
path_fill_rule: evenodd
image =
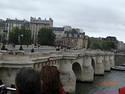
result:
<svg viewBox="0 0 125 94"><path fill-rule="evenodd" d="M73 50L68 52L0 55L0 79L14 84L16 72L21 67L40 71L42 66L56 66L65 91L74 92L76 80L91 82L94 75L104 75L114 63L114 53L100 50Z"/></svg>

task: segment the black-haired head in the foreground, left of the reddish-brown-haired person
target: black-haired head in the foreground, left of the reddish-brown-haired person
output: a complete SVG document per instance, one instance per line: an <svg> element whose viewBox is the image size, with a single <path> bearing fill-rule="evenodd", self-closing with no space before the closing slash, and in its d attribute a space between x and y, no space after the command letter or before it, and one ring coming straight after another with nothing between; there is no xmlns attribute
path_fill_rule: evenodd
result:
<svg viewBox="0 0 125 94"><path fill-rule="evenodd" d="M15 78L20 94L41 94L40 74L31 68L22 68Z"/></svg>

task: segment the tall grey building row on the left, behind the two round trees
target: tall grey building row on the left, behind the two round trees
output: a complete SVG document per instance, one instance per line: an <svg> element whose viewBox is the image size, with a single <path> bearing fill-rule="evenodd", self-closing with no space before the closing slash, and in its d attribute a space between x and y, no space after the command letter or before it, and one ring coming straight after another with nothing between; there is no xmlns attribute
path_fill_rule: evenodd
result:
<svg viewBox="0 0 125 94"><path fill-rule="evenodd" d="M6 20L0 19L0 35L5 35L5 40L9 40L9 32L12 31L14 27L18 27L21 29L22 27L26 29L30 29L32 32L32 39L33 42L37 42L37 35L38 31L41 28L52 28L53 27L53 20L49 18L49 20L41 20L39 17L38 19L31 17L30 21L27 20L19 20L19 19L10 19L7 18ZM0 39L1 40L1 39Z"/></svg>

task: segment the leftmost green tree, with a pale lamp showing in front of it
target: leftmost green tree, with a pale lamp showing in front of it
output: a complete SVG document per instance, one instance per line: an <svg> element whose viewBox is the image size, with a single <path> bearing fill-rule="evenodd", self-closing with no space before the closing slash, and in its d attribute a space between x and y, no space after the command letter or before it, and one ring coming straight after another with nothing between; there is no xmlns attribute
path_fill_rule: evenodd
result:
<svg viewBox="0 0 125 94"><path fill-rule="evenodd" d="M25 28L14 27L9 33L9 43L13 44L31 44L31 31Z"/></svg>

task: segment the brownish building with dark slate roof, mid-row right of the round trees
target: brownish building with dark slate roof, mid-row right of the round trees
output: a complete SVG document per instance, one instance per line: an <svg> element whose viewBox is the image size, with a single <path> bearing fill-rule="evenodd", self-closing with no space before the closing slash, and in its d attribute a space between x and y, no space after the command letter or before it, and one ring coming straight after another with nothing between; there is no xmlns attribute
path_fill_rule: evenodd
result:
<svg viewBox="0 0 125 94"><path fill-rule="evenodd" d="M87 48L88 37L85 36L85 32L80 32L80 29L65 31L65 36L63 37L63 45L65 47L74 49Z"/></svg>

